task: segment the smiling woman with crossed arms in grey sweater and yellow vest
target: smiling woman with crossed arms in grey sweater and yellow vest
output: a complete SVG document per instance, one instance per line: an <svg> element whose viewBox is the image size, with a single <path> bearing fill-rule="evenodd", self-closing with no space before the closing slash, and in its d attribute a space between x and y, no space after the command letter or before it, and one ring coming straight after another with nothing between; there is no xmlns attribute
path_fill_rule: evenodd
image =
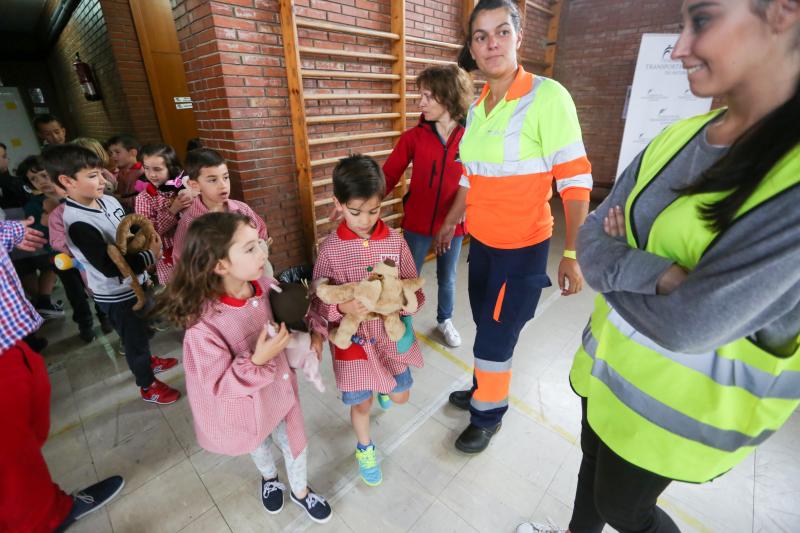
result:
<svg viewBox="0 0 800 533"><path fill-rule="evenodd" d="M658 135L580 231L602 295L570 373L572 533L678 531L667 486L724 474L800 405L800 4L686 0L683 19L673 58L728 107Z"/></svg>

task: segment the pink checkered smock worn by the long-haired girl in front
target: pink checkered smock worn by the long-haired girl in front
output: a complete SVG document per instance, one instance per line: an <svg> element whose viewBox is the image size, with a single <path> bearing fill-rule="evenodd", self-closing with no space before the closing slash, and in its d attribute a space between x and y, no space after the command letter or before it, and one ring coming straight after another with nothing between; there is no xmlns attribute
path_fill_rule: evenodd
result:
<svg viewBox="0 0 800 533"><path fill-rule="evenodd" d="M286 422L292 455L306 447L297 377L285 353L265 365L253 364L256 340L272 320L268 292L272 280L253 282L246 300L223 296L206 307L186 330L183 367L197 442L224 455L255 450Z"/></svg>

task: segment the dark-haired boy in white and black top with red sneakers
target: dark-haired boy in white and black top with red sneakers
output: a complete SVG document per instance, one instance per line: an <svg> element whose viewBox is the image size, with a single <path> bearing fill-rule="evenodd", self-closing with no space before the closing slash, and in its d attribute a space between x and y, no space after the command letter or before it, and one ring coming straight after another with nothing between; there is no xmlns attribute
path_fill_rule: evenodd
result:
<svg viewBox="0 0 800 533"><path fill-rule="evenodd" d="M50 147L42 152L48 173L67 191L64 227L67 246L86 269L89 288L100 309L108 316L125 347L128 367L141 388L142 399L158 404L175 402L180 393L155 379L154 374L175 366L174 358L151 355L150 328L133 310L136 296L131 281L123 278L108 255L107 246L116 242L117 226L125 216L120 203L103 196L105 178L100 159L81 146ZM144 283L147 267L161 256L161 241L150 250L128 254L125 260Z"/></svg>

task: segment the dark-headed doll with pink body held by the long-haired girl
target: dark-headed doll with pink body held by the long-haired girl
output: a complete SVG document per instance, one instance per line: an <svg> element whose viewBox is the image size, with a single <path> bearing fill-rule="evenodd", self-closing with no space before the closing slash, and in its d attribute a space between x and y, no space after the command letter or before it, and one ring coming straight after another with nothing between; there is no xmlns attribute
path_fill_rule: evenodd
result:
<svg viewBox="0 0 800 533"><path fill-rule="evenodd" d="M325 392L325 385L319 374L319 359L317 353L311 349L311 335L305 321L309 307L307 283L276 283L270 284L269 304L276 322L283 322L289 329L289 344L284 348L289 366L301 369L306 380L320 392ZM267 333L270 337L277 335L274 324L267 324Z"/></svg>

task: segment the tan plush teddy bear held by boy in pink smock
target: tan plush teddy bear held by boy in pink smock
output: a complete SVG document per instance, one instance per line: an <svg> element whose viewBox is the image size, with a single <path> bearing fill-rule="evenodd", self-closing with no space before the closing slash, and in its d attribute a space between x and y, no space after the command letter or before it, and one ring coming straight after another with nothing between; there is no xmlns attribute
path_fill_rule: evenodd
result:
<svg viewBox="0 0 800 533"><path fill-rule="evenodd" d="M391 340L400 340L406 333L400 312L414 313L419 305L415 293L424 285L423 278L400 279L397 264L391 259L368 270L370 274L363 281L342 285L323 283L316 289L317 296L326 304L358 300L369 311L367 314L347 314L339 327L331 330L331 342L342 350L350 347L361 322L375 318L383 319L383 326Z"/></svg>

